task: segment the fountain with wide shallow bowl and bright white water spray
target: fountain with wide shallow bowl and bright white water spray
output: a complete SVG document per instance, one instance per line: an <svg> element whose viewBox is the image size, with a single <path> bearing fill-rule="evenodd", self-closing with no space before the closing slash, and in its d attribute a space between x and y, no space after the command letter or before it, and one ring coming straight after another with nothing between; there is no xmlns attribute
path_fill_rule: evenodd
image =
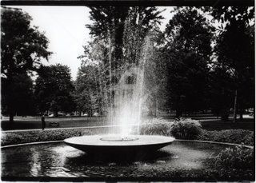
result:
<svg viewBox="0 0 256 183"><path fill-rule="evenodd" d="M144 64L150 38L146 37L142 59L137 66L130 66L120 78L118 84L111 89L114 106L110 120L120 129L115 134L71 137L64 142L86 153L148 153L170 145L174 137L139 135L142 116Z"/></svg>

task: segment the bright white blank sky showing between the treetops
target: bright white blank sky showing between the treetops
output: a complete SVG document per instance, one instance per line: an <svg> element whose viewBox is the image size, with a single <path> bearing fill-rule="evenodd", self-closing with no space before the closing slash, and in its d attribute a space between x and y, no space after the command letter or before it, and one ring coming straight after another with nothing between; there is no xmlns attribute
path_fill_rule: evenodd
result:
<svg viewBox="0 0 256 183"><path fill-rule="evenodd" d="M49 50L53 52L46 66L56 63L69 66L71 77L75 80L78 67L81 65L79 55L83 54L86 42L90 41L90 9L86 6L9 6L20 8L33 18L31 25L38 26L38 30L45 32L49 40ZM158 7L162 12L161 30L165 29L172 14L173 7Z"/></svg>

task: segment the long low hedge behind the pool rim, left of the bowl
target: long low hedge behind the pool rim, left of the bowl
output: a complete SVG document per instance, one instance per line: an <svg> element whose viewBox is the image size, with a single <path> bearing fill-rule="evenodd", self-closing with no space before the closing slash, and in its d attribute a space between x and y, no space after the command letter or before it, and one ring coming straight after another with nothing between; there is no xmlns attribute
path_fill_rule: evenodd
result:
<svg viewBox="0 0 256 183"><path fill-rule="evenodd" d="M62 141L68 137L92 135L88 129L46 129L2 133L1 145L15 145L36 141Z"/></svg>

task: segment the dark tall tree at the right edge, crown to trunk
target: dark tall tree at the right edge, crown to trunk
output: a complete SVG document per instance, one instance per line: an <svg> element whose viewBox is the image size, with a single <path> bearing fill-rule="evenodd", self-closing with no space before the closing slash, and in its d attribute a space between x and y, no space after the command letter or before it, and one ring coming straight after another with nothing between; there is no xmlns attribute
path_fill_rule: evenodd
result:
<svg viewBox="0 0 256 183"><path fill-rule="evenodd" d="M254 7L218 7L210 12L222 23L214 51L219 67L233 78L227 90L233 90L235 121L238 109L242 118L243 110L254 106Z"/></svg>

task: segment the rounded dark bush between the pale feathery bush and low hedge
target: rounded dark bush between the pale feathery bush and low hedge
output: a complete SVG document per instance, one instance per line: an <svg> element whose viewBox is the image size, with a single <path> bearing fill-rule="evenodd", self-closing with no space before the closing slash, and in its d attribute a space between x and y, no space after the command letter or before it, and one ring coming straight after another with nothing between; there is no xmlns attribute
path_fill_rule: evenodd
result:
<svg viewBox="0 0 256 183"><path fill-rule="evenodd" d="M201 131L201 124L191 119L175 121L171 127L171 134L180 139L196 139Z"/></svg>

